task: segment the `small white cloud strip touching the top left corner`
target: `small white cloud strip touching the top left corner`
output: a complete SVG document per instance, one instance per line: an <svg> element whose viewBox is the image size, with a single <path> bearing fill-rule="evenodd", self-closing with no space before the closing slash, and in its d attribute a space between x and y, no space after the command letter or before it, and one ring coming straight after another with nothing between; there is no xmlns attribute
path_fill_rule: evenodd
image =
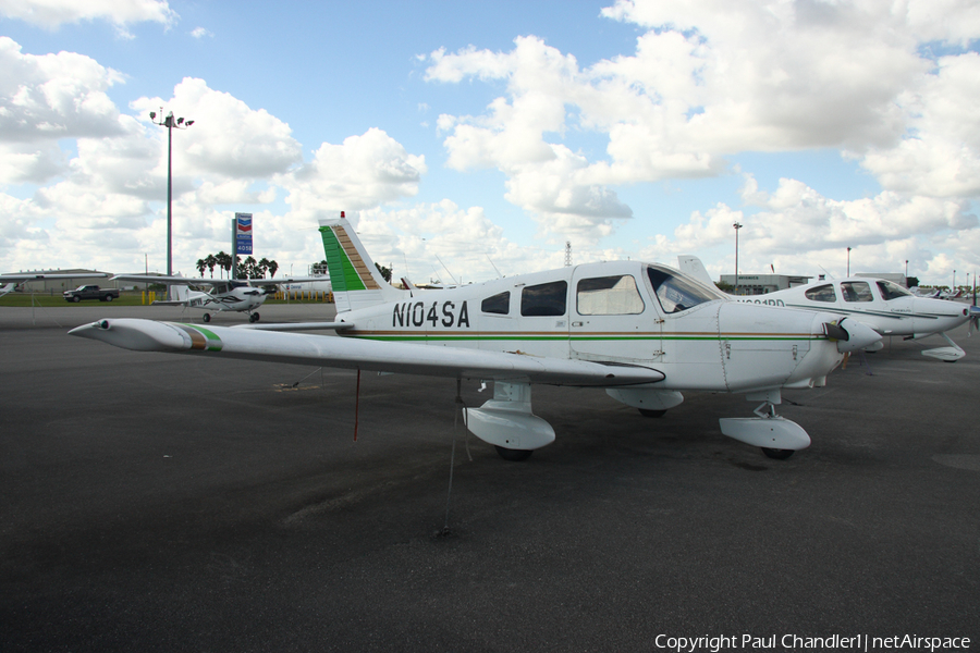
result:
<svg viewBox="0 0 980 653"><path fill-rule="evenodd" d="M0 0L0 15L46 29L66 23L108 21L122 37L131 37L126 25L152 22L164 27L177 20L166 0Z"/></svg>

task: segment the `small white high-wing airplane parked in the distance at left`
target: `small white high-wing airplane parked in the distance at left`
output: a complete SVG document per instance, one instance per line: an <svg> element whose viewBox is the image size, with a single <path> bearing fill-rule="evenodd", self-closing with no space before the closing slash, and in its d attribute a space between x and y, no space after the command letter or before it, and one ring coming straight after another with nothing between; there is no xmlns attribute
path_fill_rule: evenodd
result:
<svg viewBox="0 0 980 653"><path fill-rule="evenodd" d="M274 280L265 279L194 279L187 276L167 276L147 274L117 274L113 281L138 281L162 283L172 289L172 299L155 301L158 306L187 306L205 311L205 322L211 321L211 312L236 311L247 312L249 322L258 322L256 309L262 305L270 294L269 288L284 283L322 281L322 276L289 276ZM194 291L189 286L210 287L208 292Z"/></svg>

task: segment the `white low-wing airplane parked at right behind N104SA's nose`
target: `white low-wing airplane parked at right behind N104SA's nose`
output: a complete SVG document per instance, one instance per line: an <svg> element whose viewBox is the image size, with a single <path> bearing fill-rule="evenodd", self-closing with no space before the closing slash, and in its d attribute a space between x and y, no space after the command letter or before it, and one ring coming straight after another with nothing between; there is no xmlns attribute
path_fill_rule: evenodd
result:
<svg viewBox="0 0 980 653"><path fill-rule="evenodd" d="M678 258L682 270L696 275L702 283L711 281L697 257ZM971 322L971 329L977 325L977 311L969 306L917 296L896 283L868 276L818 281L765 295L732 297L749 304L838 313L870 326L881 335L901 335L905 340L939 335L947 346L926 349L922 354L946 362L964 357L964 350L946 332L967 321ZM879 341L866 350L878 352L883 346Z"/></svg>

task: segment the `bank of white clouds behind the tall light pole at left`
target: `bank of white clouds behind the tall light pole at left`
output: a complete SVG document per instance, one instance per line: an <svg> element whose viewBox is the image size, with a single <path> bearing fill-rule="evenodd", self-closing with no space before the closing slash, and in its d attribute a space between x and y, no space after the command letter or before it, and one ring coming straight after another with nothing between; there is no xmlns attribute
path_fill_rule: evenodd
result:
<svg viewBox="0 0 980 653"><path fill-rule="evenodd" d="M39 185L28 199L0 193L2 269L58 260L137 270L145 255L160 268L168 131L149 113L161 107L185 125L194 120L173 130L174 264L185 272L188 260L228 249L231 217L243 207L260 220L257 246L319 260L316 238L298 231L315 226L324 207L412 197L426 172L422 157L380 130L323 144L304 163L285 122L203 79L185 78L171 97L139 98L121 113L106 95L121 76L89 58L24 56L3 38L0 59L0 184ZM280 196L292 210L260 209Z"/></svg>

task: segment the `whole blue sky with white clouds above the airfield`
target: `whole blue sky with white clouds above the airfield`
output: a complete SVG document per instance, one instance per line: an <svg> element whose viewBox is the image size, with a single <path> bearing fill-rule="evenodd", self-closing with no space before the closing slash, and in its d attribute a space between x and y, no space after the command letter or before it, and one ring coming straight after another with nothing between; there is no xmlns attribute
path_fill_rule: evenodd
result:
<svg viewBox="0 0 980 653"><path fill-rule="evenodd" d="M0 0L2 271L166 268L160 106L185 273L235 211L303 270L339 210L419 281L731 273L736 220L740 271L980 268L970 2L76 4Z"/></svg>

